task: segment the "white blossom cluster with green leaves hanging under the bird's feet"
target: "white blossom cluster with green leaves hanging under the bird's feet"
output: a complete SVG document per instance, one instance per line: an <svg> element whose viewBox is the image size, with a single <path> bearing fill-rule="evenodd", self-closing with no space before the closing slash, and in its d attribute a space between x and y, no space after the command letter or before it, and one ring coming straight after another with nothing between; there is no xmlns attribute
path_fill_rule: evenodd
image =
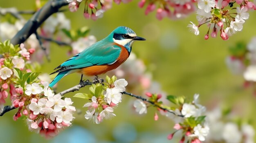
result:
<svg viewBox="0 0 256 143"><path fill-rule="evenodd" d="M94 123L101 123L104 119L112 119L116 115L113 113L114 108L122 100L122 93L126 90L128 85L125 79L118 79L106 76L107 83L104 86L99 84L92 84L90 87L90 94L77 93L74 97L88 99L90 102L84 104L88 110L85 114L85 119L92 120ZM105 93L106 91L106 93Z"/></svg>

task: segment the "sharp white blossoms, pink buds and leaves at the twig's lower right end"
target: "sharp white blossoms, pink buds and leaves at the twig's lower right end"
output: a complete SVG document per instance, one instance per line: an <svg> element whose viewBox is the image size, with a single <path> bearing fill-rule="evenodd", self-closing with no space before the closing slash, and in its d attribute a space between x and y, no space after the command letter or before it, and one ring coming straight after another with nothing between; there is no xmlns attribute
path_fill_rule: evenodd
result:
<svg viewBox="0 0 256 143"><path fill-rule="evenodd" d="M176 107L168 107L163 105L162 101L158 101L162 98L160 94L146 93L147 103L153 104L157 107L162 115L172 119L175 122L174 129L175 132L169 134L167 138L169 140L173 139L174 134L182 130L182 139L180 143L184 143L185 140L191 143L201 143L205 141L206 136L209 133L209 126L205 121L203 113L206 108L198 103L198 94L194 95L194 100L191 103L185 103L185 97L175 97L173 95L167 96L167 99L175 104ZM136 112L139 114L146 114L147 108L145 101L140 99L135 100L133 106ZM163 110L165 108L166 110ZM157 113L155 113L155 120L158 119Z"/></svg>

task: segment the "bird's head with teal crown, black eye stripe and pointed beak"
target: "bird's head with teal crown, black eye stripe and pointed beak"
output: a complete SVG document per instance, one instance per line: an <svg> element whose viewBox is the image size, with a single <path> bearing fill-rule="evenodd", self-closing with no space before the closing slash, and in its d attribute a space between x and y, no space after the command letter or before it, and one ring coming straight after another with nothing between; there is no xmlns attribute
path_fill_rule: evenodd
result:
<svg viewBox="0 0 256 143"><path fill-rule="evenodd" d="M112 37L113 42L122 45L126 48L131 48L132 44L135 40L146 40L142 37L136 35L132 29L126 26L117 27L112 33L109 35ZM127 49L129 52L131 49Z"/></svg>

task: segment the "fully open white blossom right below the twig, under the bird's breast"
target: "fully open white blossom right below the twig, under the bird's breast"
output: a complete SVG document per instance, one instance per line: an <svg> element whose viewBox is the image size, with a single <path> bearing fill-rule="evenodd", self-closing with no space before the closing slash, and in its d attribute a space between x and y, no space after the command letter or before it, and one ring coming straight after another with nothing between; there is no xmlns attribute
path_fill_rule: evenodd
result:
<svg viewBox="0 0 256 143"><path fill-rule="evenodd" d="M118 104L122 100L122 94L118 88L107 88L106 95L107 102L110 104L111 102Z"/></svg>

